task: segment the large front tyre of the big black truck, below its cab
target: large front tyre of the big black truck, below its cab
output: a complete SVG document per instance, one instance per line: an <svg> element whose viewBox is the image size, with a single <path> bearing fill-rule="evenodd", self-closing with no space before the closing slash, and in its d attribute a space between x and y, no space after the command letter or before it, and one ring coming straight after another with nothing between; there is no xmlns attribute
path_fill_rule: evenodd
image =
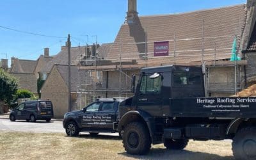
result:
<svg viewBox="0 0 256 160"><path fill-rule="evenodd" d="M122 139L128 154L146 154L151 147L148 129L140 122L131 122L125 126Z"/></svg>

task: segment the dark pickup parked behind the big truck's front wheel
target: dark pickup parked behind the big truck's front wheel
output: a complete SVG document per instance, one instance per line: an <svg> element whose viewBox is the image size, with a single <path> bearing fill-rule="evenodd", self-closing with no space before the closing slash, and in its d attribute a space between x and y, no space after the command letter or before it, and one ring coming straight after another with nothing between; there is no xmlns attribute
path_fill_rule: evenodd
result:
<svg viewBox="0 0 256 160"><path fill-rule="evenodd" d="M64 115L63 127L68 136L78 136L79 132L116 132L118 105L122 100L97 99L79 111L68 112Z"/></svg>

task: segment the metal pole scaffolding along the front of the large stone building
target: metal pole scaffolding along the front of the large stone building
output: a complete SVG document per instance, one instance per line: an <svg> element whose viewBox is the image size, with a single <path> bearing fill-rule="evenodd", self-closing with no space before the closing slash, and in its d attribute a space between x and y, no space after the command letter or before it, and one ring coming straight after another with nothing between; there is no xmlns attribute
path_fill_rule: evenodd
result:
<svg viewBox="0 0 256 160"><path fill-rule="evenodd" d="M240 44L243 33L241 22L239 22L238 29L236 26L232 35L205 36L207 26L205 26L204 20L201 29L201 37L179 36L174 31L170 39L161 41L148 41L148 36L150 35L145 33L145 42L123 42L123 35L120 35L120 40L114 44L118 45L116 50L119 52L115 58L102 58L97 52L95 52L94 56L93 54L88 56L86 52L85 58L79 61L79 70L86 70L86 77L90 77L91 80L86 84L81 84L77 93L85 94L86 104L88 103L88 95L93 97L92 100L95 100L95 97L109 97L108 93L112 92L111 96L116 95L115 97L118 98L126 98L132 95L130 86L131 74L133 72L138 74L140 68L159 65L202 66L203 63L206 66L205 90L207 95L211 92L236 93L241 90L241 66L246 65L247 61L229 61L232 47L231 45L227 47L227 44L232 44L234 38L237 38L237 54L241 56ZM152 52L154 51L154 43L165 41L168 41L170 45L169 55L154 56L154 52ZM201 48L198 46L201 46ZM144 52L135 51L136 47L140 47ZM134 49L134 52L129 52L132 50L131 48ZM227 79L223 83L212 82L212 70L220 67L229 68L234 80ZM113 82L118 82L118 85L116 84L118 87L109 88L109 72L115 72L114 76L118 75L116 77L118 81ZM115 79L115 77L111 78Z"/></svg>

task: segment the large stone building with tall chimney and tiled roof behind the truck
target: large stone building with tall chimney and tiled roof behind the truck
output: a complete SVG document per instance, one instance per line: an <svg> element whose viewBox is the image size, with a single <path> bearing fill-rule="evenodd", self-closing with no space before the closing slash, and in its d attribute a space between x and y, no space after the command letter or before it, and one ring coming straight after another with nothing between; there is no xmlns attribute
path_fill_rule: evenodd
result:
<svg viewBox="0 0 256 160"><path fill-rule="evenodd" d="M84 65L81 69L102 71L102 88L94 91L102 97L129 97L132 95L129 92L131 74L138 74L140 68L202 66L204 63L207 95L233 95L250 84L256 74L252 71L254 51L249 47L253 46L255 38L252 30L255 24L253 2L188 13L138 16L136 0L128 0L125 23L104 59L97 60L96 67ZM230 61L234 39L237 41L237 54L242 59L239 61ZM246 40L250 45L248 42L244 51ZM166 54L156 54L159 43L166 44ZM244 68L250 70L252 76L243 71Z"/></svg>

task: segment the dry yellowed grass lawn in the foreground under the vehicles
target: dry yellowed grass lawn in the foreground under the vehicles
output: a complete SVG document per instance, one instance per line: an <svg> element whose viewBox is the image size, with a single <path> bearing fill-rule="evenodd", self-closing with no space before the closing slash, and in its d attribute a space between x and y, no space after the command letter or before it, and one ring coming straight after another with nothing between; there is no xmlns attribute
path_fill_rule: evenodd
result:
<svg viewBox="0 0 256 160"><path fill-rule="evenodd" d="M145 156L126 154L116 136L0 131L0 159L233 159L230 141L189 141L184 150L152 146Z"/></svg>

